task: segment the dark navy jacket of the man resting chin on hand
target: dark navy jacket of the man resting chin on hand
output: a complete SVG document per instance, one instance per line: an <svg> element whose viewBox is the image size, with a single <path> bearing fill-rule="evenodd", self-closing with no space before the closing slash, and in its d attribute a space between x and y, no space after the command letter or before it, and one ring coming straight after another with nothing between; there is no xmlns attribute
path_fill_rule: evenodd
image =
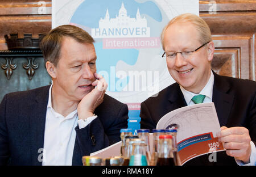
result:
<svg viewBox="0 0 256 177"><path fill-rule="evenodd" d="M0 105L0 165L42 165L49 86L5 95ZM76 130L72 165L82 156L120 141L127 128L128 108L105 94L94 112L98 117ZM41 157L39 156L41 154Z"/></svg>

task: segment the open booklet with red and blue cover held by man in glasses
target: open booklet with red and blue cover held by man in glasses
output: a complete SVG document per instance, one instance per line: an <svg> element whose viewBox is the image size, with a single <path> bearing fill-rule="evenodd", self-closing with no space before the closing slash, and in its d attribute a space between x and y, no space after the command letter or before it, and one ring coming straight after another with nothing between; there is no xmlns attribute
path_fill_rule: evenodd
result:
<svg viewBox="0 0 256 177"><path fill-rule="evenodd" d="M177 128L177 151L182 165L200 155L225 150L216 137L221 129L214 103L195 104L167 113L156 129L168 128Z"/></svg>

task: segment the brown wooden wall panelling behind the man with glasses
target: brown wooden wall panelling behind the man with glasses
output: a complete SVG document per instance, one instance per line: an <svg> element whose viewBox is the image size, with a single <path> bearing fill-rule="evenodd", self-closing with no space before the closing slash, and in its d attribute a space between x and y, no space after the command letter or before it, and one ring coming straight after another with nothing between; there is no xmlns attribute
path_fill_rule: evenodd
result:
<svg viewBox="0 0 256 177"><path fill-rule="evenodd" d="M213 70L256 81L256 1L200 1L199 9L216 47Z"/></svg>

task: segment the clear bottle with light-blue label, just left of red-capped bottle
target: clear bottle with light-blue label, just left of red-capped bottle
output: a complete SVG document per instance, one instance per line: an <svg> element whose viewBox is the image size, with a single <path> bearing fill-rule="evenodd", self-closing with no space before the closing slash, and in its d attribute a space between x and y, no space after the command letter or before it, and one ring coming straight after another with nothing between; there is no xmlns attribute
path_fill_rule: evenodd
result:
<svg viewBox="0 0 256 177"><path fill-rule="evenodd" d="M132 143L129 166L147 166L147 145L143 140Z"/></svg>

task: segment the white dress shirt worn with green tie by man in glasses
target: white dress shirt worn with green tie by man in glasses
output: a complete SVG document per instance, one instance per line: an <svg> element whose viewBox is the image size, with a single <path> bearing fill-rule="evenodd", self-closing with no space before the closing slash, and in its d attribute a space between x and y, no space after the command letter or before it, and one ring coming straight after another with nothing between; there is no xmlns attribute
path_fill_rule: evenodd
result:
<svg viewBox="0 0 256 177"><path fill-rule="evenodd" d="M211 70L209 81L207 82L207 85L205 85L205 87L200 91L199 94L195 94L193 92L187 91L181 85L180 85L180 90L181 90L181 92L184 96L184 99L185 99L188 106L191 106L191 105L195 104L191 100L193 98L193 96L195 96L195 95L205 95L203 103L210 103L210 102L212 102L213 84L214 84L214 75L213 75L212 70ZM239 161L239 160L236 159L236 162L237 162L238 165L252 165L252 166L256 165L256 148L255 148L255 145L252 141L250 142L250 145L251 145L250 163L245 164L242 161Z"/></svg>

